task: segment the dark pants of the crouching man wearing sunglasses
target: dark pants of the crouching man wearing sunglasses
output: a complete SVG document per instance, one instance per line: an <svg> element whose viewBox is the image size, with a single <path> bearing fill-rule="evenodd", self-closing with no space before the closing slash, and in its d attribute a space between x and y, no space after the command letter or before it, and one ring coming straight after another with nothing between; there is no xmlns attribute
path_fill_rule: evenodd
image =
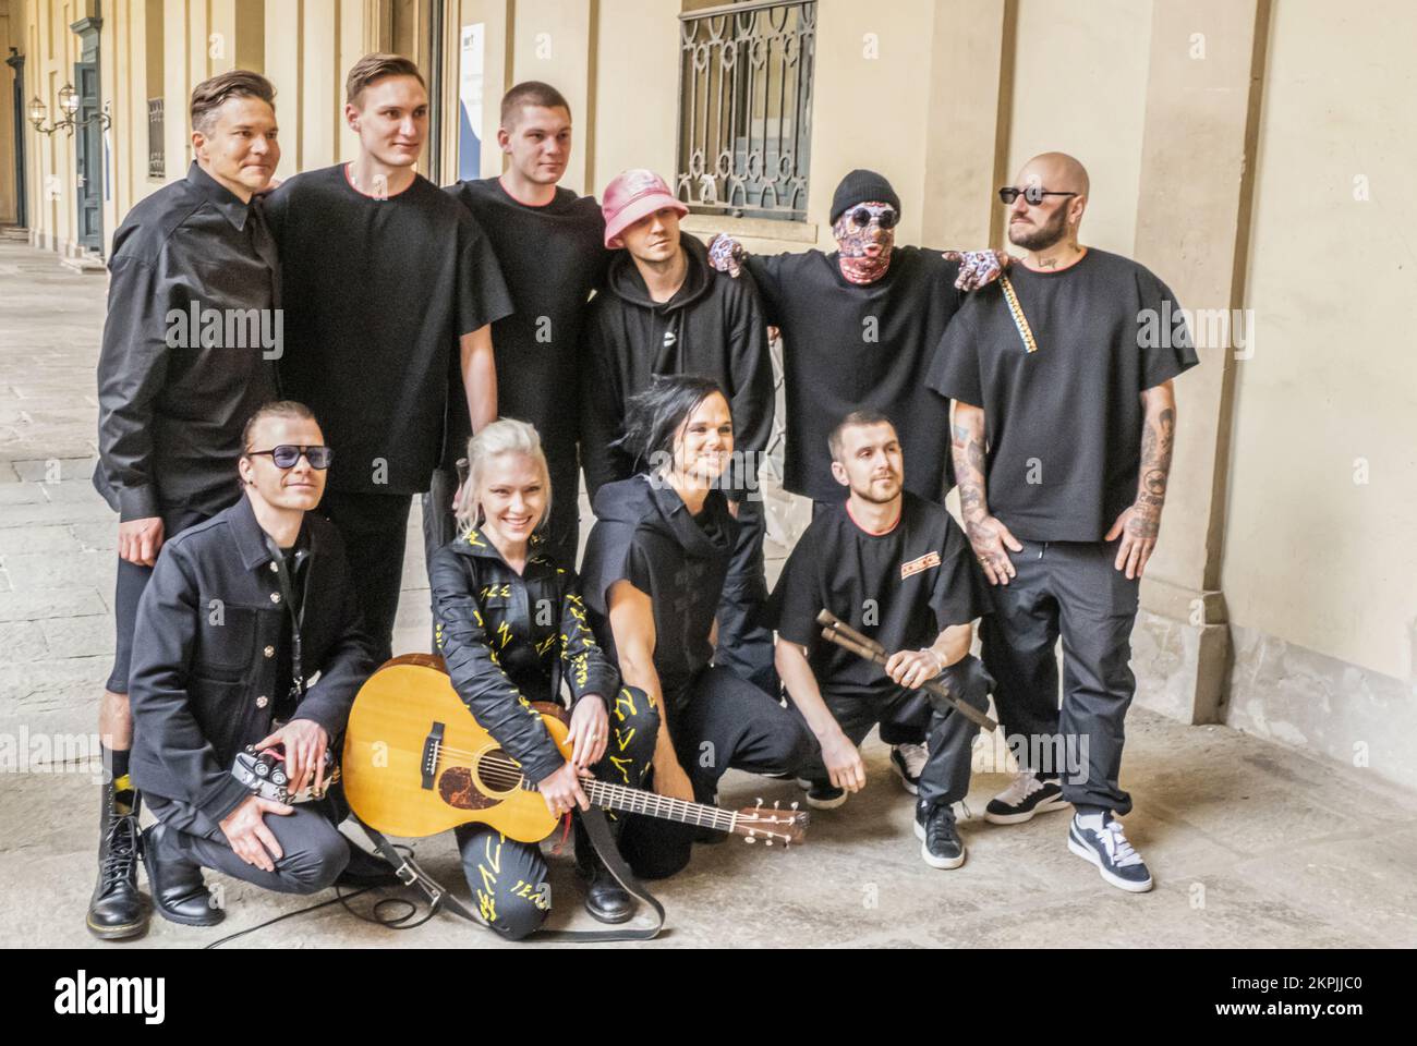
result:
<svg viewBox="0 0 1417 1046"><path fill-rule="evenodd" d="M262 890L319 893L333 886L350 860L350 843L336 828L349 811L334 798L334 792L317 802L295 806L293 814L266 814L262 818L281 843L282 853L273 872L265 872L238 857L221 826L201 811L156 797L149 797L147 805L171 829L164 843L170 849L159 853L159 859L190 860Z"/></svg>

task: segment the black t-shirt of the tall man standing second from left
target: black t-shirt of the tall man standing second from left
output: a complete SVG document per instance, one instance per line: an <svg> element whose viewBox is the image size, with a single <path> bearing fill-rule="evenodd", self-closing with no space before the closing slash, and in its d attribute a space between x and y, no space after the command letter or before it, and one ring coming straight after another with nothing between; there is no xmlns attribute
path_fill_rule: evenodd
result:
<svg viewBox="0 0 1417 1046"><path fill-rule="evenodd" d="M334 448L330 489L427 490L458 339L512 312L492 244L427 179L378 198L343 164L296 174L266 214L283 275L282 391L315 410Z"/></svg>

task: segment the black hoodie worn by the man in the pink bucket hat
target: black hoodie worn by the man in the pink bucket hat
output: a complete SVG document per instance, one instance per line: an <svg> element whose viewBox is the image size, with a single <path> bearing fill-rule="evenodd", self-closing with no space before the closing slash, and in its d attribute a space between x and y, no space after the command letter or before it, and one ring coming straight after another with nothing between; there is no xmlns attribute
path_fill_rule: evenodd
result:
<svg viewBox="0 0 1417 1046"><path fill-rule="evenodd" d="M684 285L667 302L645 289L629 251L616 252L606 286L591 302L585 325L588 364L581 403L581 462L591 497L605 483L643 466L612 444L623 435L629 397L652 374L703 374L723 386L733 411L734 451L743 465L724 486L741 495L757 483L752 466L772 437L772 359L768 327L752 279L720 275L691 235Z"/></svg>

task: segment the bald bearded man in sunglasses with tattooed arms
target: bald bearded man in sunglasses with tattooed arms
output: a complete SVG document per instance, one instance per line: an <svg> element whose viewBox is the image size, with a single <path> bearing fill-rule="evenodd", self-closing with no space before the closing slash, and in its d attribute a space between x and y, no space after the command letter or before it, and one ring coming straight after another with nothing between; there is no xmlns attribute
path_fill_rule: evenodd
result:
<svg viewBox="0 0 1417 1046"><path fill-rule="evenodd" d="M1027 741L1015 744L1020 778L986 816L1015 823L1071 802L1068 848L1141 893L1151 873L1112 819L1132 806L1118 785L1131 632L1166 499L1172 378L1197 359L1165 283L1078 245L1087 194L1087 171L1063 153L999 190L1023 264L949 325L930 386L955 400L961 506L995 585L983 659L1003 726Z"/></svg>

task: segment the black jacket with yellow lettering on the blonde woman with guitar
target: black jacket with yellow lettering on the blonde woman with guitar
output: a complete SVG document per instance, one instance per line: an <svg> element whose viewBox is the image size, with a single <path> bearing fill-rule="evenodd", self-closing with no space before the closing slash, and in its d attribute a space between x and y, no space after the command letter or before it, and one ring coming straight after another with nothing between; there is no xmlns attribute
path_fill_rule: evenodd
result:
<svg viewBox="0 0 1417 1046"><path fill-rule="evenodd" d="M534 549L517 574L472 527L434 554L438 651L473 719L540 781L565 760L531 702L557 700L557 673L574 700L599 694L612 707L619 672L597 645L575 571Z"/></svg>

